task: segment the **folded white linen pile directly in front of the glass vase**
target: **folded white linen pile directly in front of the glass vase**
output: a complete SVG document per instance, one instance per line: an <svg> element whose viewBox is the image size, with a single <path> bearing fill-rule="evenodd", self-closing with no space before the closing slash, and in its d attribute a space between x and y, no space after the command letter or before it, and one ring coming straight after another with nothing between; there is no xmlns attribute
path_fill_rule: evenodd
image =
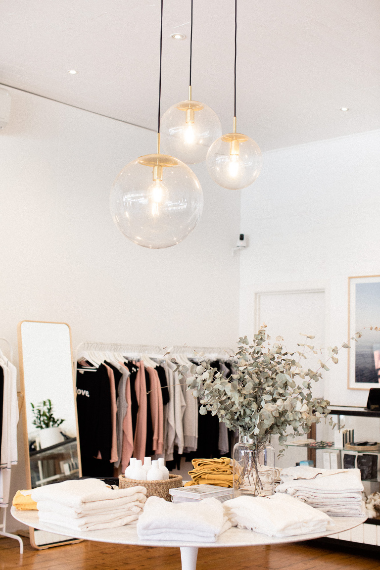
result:
<svg viewBox="0 0 380 570"><path fill-rule="evenodd" d="M232 526L248 528L268 536L293 536L325 532L332 519L289 495L241 495L223 503Z"/></svg>

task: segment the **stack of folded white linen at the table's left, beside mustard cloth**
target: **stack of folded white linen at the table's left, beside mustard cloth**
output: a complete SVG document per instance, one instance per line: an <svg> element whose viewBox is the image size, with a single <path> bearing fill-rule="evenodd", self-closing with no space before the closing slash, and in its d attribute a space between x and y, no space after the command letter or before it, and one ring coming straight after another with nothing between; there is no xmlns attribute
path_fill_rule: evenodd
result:
<svg viewBox="0 0 380 570"><path fill-rule="evenodd" d="M77 479L32 490L39 520L74 531L116 528L138 519L145 487L112 488L99 479Z"/></svg>

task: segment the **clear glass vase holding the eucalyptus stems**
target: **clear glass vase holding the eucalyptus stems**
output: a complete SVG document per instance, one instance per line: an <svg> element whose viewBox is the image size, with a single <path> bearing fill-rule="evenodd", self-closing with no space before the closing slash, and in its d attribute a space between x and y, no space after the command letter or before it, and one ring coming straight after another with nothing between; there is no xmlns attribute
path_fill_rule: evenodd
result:
<svg viewBox="0 0 380 570"><path fill-rule="evenodd" d="M232 496L273 495L275 492L275 450L267 436L240 435L232 461Z"/></svg>

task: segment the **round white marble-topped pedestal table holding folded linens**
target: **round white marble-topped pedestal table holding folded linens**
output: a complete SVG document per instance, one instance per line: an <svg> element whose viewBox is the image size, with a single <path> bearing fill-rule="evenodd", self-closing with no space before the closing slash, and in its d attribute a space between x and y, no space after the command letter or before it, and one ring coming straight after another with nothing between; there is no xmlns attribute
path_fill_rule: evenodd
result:
<svg viewBox="0 0 380 570"><path fill-rule="evenodd" d="M68 528L60 527L58 524L42 523L38 518L38 511L18 511L11 508L11 514L19 522L28 527L38 528L42 531L54 532L63 536L72 536L84 540L95 540L96 542L109 542L114 544L134 544L138 546L164 546L177 547L181 549L182 570L195 570L197 566L198 548L223 548L228 546L261 546L265 544L281 544L287 542L299 542L301 540L311 540L321 538L338 532L344 532L359 526L365 522L365 517L332 517L336 526L326 532L313 534L288 536L276 538L266 536L258 532L239 530L236 527L223 532L216 542L186 542L182 540L140 540L136 532L136 524L126 524L124 527L110 528L99 531L72 531Z"/></svg>

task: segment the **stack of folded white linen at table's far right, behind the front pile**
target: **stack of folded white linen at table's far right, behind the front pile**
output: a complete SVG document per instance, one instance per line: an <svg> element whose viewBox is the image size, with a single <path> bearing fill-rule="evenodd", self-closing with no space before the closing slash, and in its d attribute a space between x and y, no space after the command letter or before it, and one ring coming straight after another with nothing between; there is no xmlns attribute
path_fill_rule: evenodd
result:
<svg viewBox="0 0 380 570"><path fill-rule="evenodd" d="M359 469L287 467L278 493L287 493L330 516L366 516Z"/></svg>

